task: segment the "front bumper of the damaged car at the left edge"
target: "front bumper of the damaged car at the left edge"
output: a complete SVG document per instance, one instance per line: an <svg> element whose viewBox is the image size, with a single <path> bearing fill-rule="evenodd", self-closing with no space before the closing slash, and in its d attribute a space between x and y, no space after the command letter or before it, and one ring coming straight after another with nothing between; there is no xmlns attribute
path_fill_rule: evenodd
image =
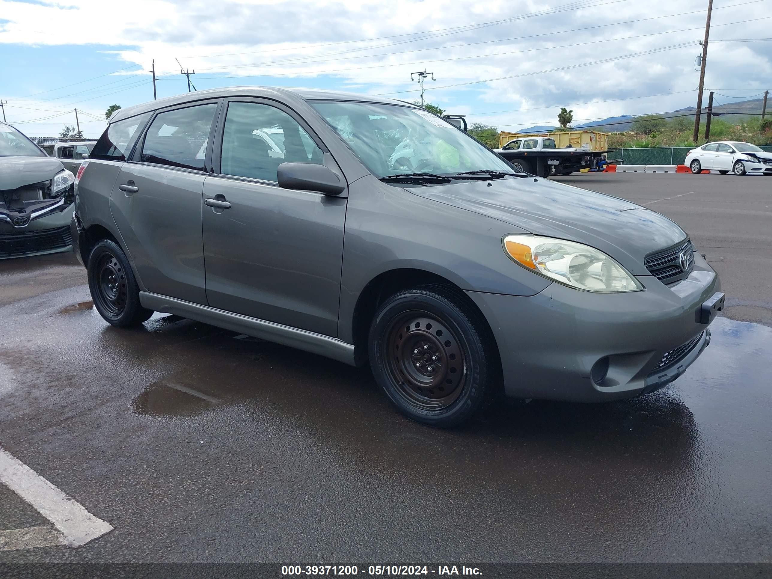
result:
<svg viewBox="0 0 772 579"><path fill-rule="evenodd" d="M73 247L69 231L73 211L74 204L23 228L0 222L0 259L69 251Z"/></svg>

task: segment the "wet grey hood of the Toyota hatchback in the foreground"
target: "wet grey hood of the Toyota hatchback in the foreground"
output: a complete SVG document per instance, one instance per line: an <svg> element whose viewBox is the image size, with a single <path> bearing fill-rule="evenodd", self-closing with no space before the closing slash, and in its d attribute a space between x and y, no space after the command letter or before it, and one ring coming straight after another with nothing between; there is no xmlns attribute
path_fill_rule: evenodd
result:
<svg viewBox="0 0 772 579"><path fill-rule="evenodd" d="M650 209L543 178L461 181L409 191L533 235L591 245L636 276L651 275L644 264L648 253L669 248L687 236L679 225Z"/></svg>

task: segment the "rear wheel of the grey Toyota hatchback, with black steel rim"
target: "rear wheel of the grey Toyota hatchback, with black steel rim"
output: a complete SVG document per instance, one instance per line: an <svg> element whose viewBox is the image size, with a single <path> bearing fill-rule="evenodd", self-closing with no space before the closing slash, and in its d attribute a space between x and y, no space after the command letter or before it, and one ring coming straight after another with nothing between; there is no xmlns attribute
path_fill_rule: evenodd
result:
<svg viewBox="0 0 772 579"><path fill-rule="evenodd" d="M111 239L94 245L88 262L94 307L115 327L138 326L153 315L140 303L140 289L123 249Z"/></svg>

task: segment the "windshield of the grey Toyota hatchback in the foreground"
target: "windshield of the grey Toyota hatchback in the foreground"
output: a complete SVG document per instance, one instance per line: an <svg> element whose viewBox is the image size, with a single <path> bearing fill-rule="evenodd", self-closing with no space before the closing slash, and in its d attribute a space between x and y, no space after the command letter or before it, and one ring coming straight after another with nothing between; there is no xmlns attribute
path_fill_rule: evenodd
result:
<svg viewBox="0 0 772 579"><path fill-rule="evenodd" d="M310 104L378 178L418 171L513 171L468 134L422 109L344 101Z"/></svg>

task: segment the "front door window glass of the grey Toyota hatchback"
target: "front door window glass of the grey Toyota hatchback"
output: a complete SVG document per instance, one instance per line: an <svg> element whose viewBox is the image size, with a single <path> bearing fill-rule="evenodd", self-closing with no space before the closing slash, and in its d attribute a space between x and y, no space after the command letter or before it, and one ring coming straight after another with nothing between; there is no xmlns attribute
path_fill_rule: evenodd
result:
<svg viewBox="0 0 772 579"><path fill-rule="evenodd" d="M229 103L221 158L222 174L275 183L280 164L322 164L323 152L283 110L262 103Z"/></svg>

